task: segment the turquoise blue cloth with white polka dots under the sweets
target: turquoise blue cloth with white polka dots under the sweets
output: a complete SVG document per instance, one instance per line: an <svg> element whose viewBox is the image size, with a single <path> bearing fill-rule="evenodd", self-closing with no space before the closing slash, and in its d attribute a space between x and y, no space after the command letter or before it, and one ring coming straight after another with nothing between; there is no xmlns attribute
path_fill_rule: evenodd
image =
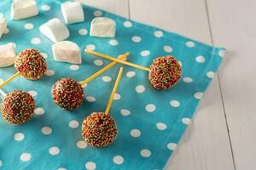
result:
<svg viewBox="0 0 256 170"><path fill-rule="evenodd" d="M24 48L37 48L44 53L44 56L47 54L46 60L50 71L47 72L48 76L38 81L17 77L3 88L5 92L12 92L15 89L30 91L36 100L37 110L29 122L20 126L10 125L0 119L0 169L40 170L60 167L68 170L95 167L96 169L162 169L165 167L190 118L195 114L201 94L218 70L224 48L214 48L172 32L133 21L127 22L127 19L104 11L102 11L103 16L112 18L117 23L116 37L90 37L90 21L95 17L94 12L97 9L84 6L85 21L67 26L71 34L68 40L76 42L82 51L83 64L78 67L56 62L51 52L53 43L38 29L55 17L64 22L60 1L38 1L40 14L26 20L10 20L11 2L0 3L0 13L8 19L9 27L9 33L3 35L0 44L15 42L17 53ZM44 5L48 5L50 9ZM29 28L27 23L32 23L34 28L25 29L25 27ZM80 29L86 29L87 34L80 35ZM133 42L131 38L134 36L141 37L141 41ZM39 38L40 42L38 39L32 41L35 37ZM113 39L119 42L115 46L109 43ZM84 88L84 98L87 97L87 100L84 99L83 105L76 111L62 111L51 98L51 88L61 77L73 77L77 81L82 81L110 63L106 59L84 54L84 48L88 44L95 45L96 51L114 57L130 51L129 61L147 67L157 56L171 54L182 63L183 71L182 79L174 88L159 91L152 88L148 82L148 72L124 66L124 74L117 92L120 96L113 101L110 111L117 122L119 134L113 144L101 149L89 145L84 148L86 144L82 142L81 123L91 112L105 111L120 65L114 66L88 83ZM144 50L148 50L150 54L143 52ZM101 61L95 61L96 59L102 60L103 65ZM1 68L0 78L3 81L14 73L13 66ZM111 77L112 81L108 82L107 78L107 82L104 82L103 79L106 81L106 77ZM79 122L79 127L71 121ZM48 130L49 134L45 135L47 129L43 127L50 127L51 133ZM25 138L15 133L22 133ZM77 146L78 142L80 148L84 149ZM59 149L59 152L51 150L56 154L54 156L49 153L49 149L53 146Z"/></svg>

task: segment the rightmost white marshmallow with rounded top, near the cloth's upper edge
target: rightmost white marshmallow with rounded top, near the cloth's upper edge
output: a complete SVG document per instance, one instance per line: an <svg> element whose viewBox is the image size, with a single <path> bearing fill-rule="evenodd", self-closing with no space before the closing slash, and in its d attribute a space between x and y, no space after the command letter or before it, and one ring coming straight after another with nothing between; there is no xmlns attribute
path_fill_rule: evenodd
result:
<svg viewBox="0 0 256 170"><path fill-rule="evenodd" d="M90 36L91 37L114 37L115 22L106 17L99 17L91 21Z"/></svg>

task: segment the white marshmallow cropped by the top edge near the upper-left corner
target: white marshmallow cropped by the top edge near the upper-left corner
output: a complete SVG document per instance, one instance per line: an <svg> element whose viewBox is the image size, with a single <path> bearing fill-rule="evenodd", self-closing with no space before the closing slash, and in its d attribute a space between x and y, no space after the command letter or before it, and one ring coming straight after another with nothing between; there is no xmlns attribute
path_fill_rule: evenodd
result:
<svg viewBox="0 0 256 170"><path fill-rule="evenodd" d="M16 0L12 3L12 20L26 19L38 15L37 2L34 0Z"/></svg>

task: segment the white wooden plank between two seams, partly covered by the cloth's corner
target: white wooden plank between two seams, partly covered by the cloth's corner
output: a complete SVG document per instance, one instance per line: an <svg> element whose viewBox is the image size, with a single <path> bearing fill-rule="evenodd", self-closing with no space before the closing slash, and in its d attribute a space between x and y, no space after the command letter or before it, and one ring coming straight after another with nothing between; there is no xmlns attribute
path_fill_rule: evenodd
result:
<svg viewBox="0 0 256 170"><path fill-rule="evenodd" d="M204 0L130 0L131 20L211 43ZM218 77L166 169L234 169Z"/></svg>

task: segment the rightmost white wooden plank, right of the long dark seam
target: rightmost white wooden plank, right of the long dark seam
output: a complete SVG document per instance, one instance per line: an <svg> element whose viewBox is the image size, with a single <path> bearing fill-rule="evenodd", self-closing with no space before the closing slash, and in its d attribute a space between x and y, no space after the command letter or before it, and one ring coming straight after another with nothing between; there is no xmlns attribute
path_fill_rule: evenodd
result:
<svg viewBox="0 0 256 170"><path fill-rule="evenodd" d="M219 71L236 168L256 169L256 1L207 1L213 42L228 48Z"/></svg>

